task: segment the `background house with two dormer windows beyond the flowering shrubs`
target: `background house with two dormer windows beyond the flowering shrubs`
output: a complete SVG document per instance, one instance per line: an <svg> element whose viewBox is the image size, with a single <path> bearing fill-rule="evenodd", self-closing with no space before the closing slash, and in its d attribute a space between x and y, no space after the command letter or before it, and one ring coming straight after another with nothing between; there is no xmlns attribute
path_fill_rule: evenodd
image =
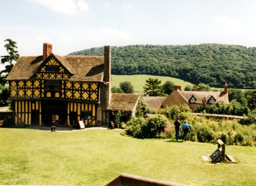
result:
<svg viewBox="0 0 256 186"><path fill-rule="evenodd" d="M194 110L200 104L216 102L229 103L227 84L224 91L182 91L181 86L174 86L174 91L163 101L162 107L188 104L190 109Z"/></svg>

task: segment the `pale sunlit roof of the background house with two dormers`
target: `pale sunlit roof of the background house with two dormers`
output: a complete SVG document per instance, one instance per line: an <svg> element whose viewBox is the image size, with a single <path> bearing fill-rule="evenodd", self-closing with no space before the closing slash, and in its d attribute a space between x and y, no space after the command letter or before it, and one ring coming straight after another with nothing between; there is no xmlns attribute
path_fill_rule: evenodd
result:
<svg viewBox="0 0 256 186"><path fill-rule="evenodd" d="M189 99L194 96L197 99L198 104L202 104L203 100L207 102L211 97L214 97L217 102L222 101L228 104L228 96L223 91L177 91L187 103Z"/></svg>

